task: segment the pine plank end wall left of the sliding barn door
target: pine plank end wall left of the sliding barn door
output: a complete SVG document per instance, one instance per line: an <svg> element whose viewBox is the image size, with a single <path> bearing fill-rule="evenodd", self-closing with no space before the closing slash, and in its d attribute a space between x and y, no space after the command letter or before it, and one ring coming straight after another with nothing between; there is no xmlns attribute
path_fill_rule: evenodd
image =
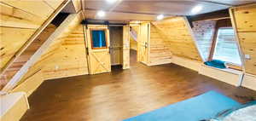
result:
<svg viewBox="0 0 256 121"><path fill-rule="evenodd" d="M74 28L63 41L44 64L44 79L88 74L83 26Z"/></svg>

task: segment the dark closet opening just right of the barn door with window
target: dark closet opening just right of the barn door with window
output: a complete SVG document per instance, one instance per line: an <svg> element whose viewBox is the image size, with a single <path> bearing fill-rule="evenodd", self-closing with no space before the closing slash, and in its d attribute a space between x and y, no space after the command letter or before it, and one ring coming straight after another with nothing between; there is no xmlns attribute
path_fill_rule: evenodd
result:
<svg viewBox="0 0 256 121"><path fill-rule="evenodd" d="M123 26L109 26L111 70L122 69Z"/></svg>

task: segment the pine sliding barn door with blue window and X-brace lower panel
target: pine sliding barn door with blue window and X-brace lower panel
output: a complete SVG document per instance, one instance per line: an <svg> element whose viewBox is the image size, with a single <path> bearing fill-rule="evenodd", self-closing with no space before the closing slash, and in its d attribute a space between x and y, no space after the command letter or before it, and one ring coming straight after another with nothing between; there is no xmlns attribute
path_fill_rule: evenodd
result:
<svg viewBox="0 0 256 121"><path fill-rule="evenodd" d="M108 26L88 25L86 29L89 72L111 72Z"/></svg>

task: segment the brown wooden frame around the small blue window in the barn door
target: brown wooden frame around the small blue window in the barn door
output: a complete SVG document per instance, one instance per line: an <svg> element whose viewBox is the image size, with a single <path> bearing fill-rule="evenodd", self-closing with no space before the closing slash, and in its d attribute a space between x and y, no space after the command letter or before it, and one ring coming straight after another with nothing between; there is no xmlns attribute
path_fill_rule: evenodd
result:
<svg viewBox="0 0 256 121"><path fill-rule="evenodd" d="M106 46L104 46L104 47L96 47L96 48L94 47L92 31L104 31ZM91 49L108 49L107 28L90 28L90 47L91 47Z"/></svg>

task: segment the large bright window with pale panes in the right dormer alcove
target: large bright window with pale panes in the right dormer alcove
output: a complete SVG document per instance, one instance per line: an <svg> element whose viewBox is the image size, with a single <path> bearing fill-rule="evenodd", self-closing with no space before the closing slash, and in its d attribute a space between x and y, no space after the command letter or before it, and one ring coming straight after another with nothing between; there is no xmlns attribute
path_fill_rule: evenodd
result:
<svg viewBox="0 0 256 121"><path fill-rule="evenodd" d="M216 47L214 49L212 59L241 65L239 49L236 44L234 30L232 28L223 27L218 29Z"/></svg>

